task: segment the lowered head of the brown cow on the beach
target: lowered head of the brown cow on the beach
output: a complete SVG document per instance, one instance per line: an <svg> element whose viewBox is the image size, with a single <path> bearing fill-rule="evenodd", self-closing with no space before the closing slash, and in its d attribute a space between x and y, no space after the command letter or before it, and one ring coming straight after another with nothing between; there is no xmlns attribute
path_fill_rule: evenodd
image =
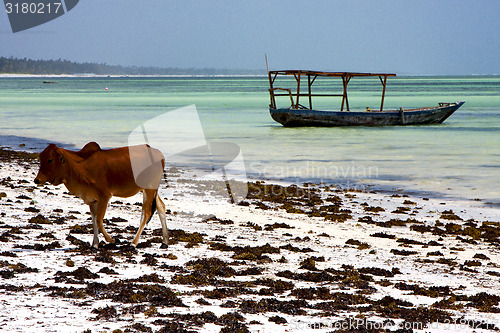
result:
<svg viewBox="0 0 500 333"><path fill-rule="evenodd" d="M40 153L40 170L36 175L35 184L61 184L64 179L64 163L62 149L51 143Z"/></svg>

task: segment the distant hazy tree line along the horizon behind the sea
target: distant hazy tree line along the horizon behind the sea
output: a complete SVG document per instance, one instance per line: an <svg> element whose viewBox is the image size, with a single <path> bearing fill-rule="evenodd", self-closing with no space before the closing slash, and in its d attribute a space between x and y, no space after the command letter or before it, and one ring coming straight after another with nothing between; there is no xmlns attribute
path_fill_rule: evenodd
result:
<svg viewBox="0 0 500 333"><path fill-rule="evenodd" d="M258 75L261 70L217 68L162 68L77 63L68 60L32 60L0 57L2 74L97 74L97 75Z"/></svg>

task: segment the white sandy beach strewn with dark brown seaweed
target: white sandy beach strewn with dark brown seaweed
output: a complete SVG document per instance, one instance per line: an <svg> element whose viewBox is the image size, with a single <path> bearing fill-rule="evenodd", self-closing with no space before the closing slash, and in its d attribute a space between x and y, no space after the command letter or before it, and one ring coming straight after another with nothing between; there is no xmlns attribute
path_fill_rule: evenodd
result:
<svg viewBox="0 0 500 333"><path fill-rule="evenodd" d="M90 249L88 206L0 154L0 331L497 332L500 209L404 192L220 184L168 170L157 216L126 246L140 195L113 198ZM100 237L101 241L103 237Z"/></svg>

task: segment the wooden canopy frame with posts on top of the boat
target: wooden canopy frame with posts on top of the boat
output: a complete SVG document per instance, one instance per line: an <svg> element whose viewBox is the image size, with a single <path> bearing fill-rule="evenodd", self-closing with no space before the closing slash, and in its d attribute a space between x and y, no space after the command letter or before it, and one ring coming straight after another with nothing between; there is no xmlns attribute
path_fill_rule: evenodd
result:
<svg viewBox="0 0 500 333"><path fill-rule="evenodd" d="M291 89L274 87L274 81L278 75L288 75L293 76L297 81L297 91L292 93ZM380 102L380 111L384 108L384 98L385 98L385 87L387 84L388 76L396 76L392 73L358 73L358 72L322 72L322 71L311 71L311 70L278 70L278 71L268 71L269 76L269 94L271 98L271 104L269 107L271 109L276 109L276 96L289 96L292 109L310 109L312 110L312 98L313 97L342 97L342 104L340 111L344 111L344 106L347 111L349 111L349 99L347 97L347 85L353 77L367 77L367 76L378 76L380 82L382 83L382 98ZM317 77L338 77L342 79L343 92L341 94L313 94L311 91L312 84ZM301 93L301 79L307 78L307 93ZM276 90L286 91L288 93L276 93ZM299 103L300 97L306 97L309 100L309 108L301 105Z"/></svg>

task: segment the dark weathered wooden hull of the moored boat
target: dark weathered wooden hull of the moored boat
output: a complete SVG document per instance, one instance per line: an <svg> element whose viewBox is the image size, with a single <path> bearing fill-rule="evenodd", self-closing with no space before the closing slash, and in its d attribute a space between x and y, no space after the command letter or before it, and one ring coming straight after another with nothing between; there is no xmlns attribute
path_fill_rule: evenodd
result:
<svg viewBox="0 0 500 333"><path fill-rule="evenodd" d="M309 109L269 109L271 117L286 127L299 126L394 126L440 124L464 102L441 103L432 108L392 111L318 111Z"/></svg>

